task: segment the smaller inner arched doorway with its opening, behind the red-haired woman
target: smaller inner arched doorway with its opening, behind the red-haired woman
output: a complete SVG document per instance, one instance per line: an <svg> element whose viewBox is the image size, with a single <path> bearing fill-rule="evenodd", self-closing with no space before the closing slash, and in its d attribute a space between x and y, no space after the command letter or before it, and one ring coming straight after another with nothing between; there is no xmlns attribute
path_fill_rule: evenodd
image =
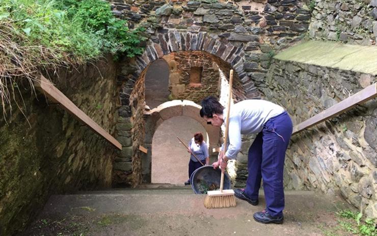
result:
<svg viewBox="0 0 377 236"><path fill-rule="evenodd" d="M186 181L188 179L188 171L187 171L187 164L189 163L189 155L183 145L179 143L176 136L179 136L183 141L189 142L189 140L193 137L195 132L201 131L205 140L208 143L209 147L209 156L210 161L214 160L217 157L217 153L213 153L213 147L217 147L220 141L220 128L208 125L205 120L203 120L199 115L200 106L192 101L181 101L181 100L173 100L166 103L161 104L157 108L154 108L150 111L145 113L146 119L146 129L145 129L145 139L144 145L148 148L148 153L142 155L142 171L143 171L143 182L144 183L157 183L156 181L152 181L152 168L157 169L159 164L161 164L160 172L166 172L166 163L153 163L152 155L154 156L154 146L155 144L161 145L161 150L163 152L170 152L173 147L179 148L177 153L182 156L181 161L181 168L184 170L180 170L182 172L182 179ZM181 120L175 120L179 118L175 117L182 117ZM185 119L185 120L184 120ZM168 129L172 129L172 127L177 127L176 130L172 130L164 133L162 136L170 135L171 141L167 142L167 138L160 137L158 140L155 140L155 132L161 125L167 126ZM183 128L182 128L183 127ZM184 136L183 136L184 135ZM154 144L154 145L153 145ZM158 148L158 147L157 147ZM164 156L164 154L162 154ZM169 159L169 158L165 158ZM170 159L169 159L170 160ZM153 167L152 167L153 166ZM177 183L184 183L180 180ZM158 181L160 182L160 181ZM164 181L165 183L168 183Z"/></svg>

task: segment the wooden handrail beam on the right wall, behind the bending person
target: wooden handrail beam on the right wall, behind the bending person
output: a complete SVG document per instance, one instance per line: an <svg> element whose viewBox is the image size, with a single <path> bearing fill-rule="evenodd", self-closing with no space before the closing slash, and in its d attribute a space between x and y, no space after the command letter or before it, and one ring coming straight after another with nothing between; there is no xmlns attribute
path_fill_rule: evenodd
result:
<svg viewBox="0 0 377 236"><path fill-rule="evenodd" d="M326 109L313 117L309 118L308 120L298 124L297 126L293 127L293 134L297 134L304 129L308 129L321 123L322 121L328 120L340 113L343 113L349 109L352 109L358 104L362 104L370 99L377 97L377 83L373 83L368 87L364 88L362 91L352 95L344 99L343 101L333 105L329 109Z"/></svg>

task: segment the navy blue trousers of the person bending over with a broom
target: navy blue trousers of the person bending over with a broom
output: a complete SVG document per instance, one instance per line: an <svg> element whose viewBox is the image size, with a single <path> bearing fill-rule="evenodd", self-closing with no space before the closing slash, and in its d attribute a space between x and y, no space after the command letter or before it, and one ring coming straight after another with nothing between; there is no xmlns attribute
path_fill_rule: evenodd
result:
<svg viewBox="0 0 377 236"><path fill-rule="evenodd" d="M266 211L281 217L284 209L283 169L285 151L292 134L292 121L287 112L268 120L250 146L249 175L245 193L258 199L261 179L266 201Z"/></svg>

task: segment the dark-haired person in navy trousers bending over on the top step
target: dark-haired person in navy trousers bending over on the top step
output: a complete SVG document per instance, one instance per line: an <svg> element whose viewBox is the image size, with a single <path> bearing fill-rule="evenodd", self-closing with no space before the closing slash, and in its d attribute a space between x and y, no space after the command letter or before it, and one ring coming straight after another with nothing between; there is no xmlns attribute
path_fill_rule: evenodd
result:
<svg viewBox="0 0 377 236"><path fill-rule="evenodd" d="M200 116L212 126L226 121L227 111L215 97L202 100ZM241 149L241 134L257 136L249 148L248 179L245 189L235 189L237 198L257 205L261 179L266 209L254 213L260 223L283 223L283 168L285 152L292 134L292 121L283 107L264 100L244 100L230 108L228 149L220 153L212 165L224 171L229 159L235 159Z"/></svg>

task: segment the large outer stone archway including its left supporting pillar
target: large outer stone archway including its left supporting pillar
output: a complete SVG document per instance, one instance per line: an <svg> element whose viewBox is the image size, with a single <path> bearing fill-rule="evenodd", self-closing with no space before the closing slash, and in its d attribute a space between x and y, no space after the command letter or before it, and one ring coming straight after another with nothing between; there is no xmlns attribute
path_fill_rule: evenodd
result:
<svg viewBox="0 0 377 236"><path fill-rule="evenodd" d="M146 50L141 56L123 62L124 66L118 76L121 106L118 112L120 118L117 127L126 126L130 128L128 130L118 129L117 132L119 136L122 136L118 140L127 151L122 151L118 156L119 158L116 158L116 165L113 169L115 185L137 186L143 182L142 176L148 175L145 169L149 168L149 164L146 164L148 162L144 162L142 167L145 155L139 151L139 146L149 146L149 143L151 143L151 140L148 143L148 139L145 138L145 133L148 134L148 131L145 132L145 130L148 130L150 125L145 124L146 121L144 119L144 81L149 65L159 58L163 58L170 65L169 60L172 55L180 52L208 54L213 63L217 64L215 67L219 68L219 71L221 71L225 78L228 78L230 69L235 71L233 88L237 86L237 91L234 91L233 94L237 101L250 97L259 97L260 94L257 87L244 68L245 52L243 50L243 40L250 41L253 40L253 37L233 39L232 37L222 38L210 33L159 29L147 41ZM234 43L235 41L238 42ZM200 64L193 63L191 66L198 65ZM170 74L173 75L174 73L171 72ZM220 95L220 93L216 95L213 93L212 91L210 95ZM203 94L207 93L204 91ZM184 97L179 99L184 99ZM210 140L218 139L210 138ZM146 179L144 179L145 181Z"/></svg>

